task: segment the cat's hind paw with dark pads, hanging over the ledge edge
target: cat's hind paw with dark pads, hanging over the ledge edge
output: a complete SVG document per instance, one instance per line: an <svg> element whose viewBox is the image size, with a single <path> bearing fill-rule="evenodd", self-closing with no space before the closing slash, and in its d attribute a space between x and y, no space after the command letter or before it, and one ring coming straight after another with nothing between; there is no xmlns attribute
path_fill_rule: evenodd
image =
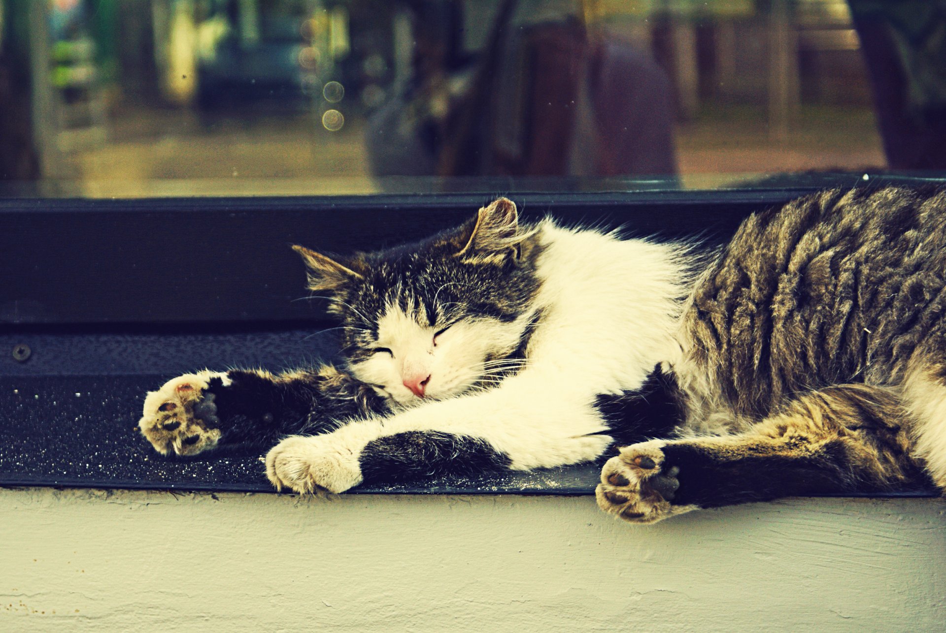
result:
<svg viewBox="0 0 946 633"><path fill-rule="evenodd" d="M680 488L680 470L667 464L665 445L654 439L625 446L617 457L607 460L595 489L598 506L634 523L653 523L696 509L672 503Z"/></svg>

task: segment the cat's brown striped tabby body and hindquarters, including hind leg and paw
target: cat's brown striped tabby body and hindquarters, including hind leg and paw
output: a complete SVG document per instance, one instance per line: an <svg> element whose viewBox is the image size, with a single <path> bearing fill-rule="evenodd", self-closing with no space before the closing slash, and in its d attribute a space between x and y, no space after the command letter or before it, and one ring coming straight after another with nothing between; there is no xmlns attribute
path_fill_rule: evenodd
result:
<svg viewBox="0 0 946 633"><path fill-rule="evenodd" d="M887 188L746 219L680 319L680 436L623 448L599 505L654 522L927 477L946 486L944 217L942 191Z"/></svg>

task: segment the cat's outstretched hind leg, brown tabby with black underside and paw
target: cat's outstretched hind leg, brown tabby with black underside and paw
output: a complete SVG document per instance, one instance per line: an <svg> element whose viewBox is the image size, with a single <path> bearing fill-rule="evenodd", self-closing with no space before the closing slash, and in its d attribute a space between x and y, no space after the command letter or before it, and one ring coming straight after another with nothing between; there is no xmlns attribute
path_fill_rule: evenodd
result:
<svg viewBox="0 0 946 633"><path fill-rule="evenodd" d="M873 492L925 481L890 389L808 393L749 432L627 446L604 465L598 505L629 522L779 497Z"/></svg>

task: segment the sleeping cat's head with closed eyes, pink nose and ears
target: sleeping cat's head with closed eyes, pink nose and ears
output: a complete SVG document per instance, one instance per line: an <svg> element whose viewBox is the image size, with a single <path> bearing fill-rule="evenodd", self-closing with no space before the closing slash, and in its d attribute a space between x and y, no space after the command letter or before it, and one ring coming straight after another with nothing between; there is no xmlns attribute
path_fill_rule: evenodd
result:
<svg viewBox="0 0 946 633"><path fill-rule="evenodd" d="M538 289L534 228L499 198L419 244L351 257L293 247L342 325L352 373L401 404L443 399L518 368Z"/></svg>

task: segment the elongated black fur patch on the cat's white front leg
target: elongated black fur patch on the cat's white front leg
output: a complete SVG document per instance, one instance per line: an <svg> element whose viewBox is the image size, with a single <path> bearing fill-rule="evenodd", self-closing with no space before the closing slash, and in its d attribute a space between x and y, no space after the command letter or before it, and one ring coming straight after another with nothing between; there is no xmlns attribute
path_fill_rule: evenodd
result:
<svg viewBox="0 0 946 633"><path fill-rule="evenodd" d="M366 484L399 484L440 476L508 470L512 460L479 437L408 431L368 442L359 456Z"/></svg>

